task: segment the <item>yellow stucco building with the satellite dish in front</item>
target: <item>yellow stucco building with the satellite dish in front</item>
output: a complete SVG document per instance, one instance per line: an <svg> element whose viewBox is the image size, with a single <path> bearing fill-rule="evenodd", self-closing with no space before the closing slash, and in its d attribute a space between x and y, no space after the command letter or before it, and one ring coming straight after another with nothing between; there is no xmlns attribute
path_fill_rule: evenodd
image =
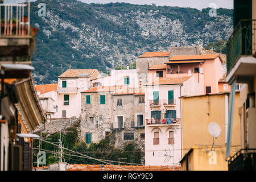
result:
<svg viewBox="0 0 256 182"><path fill-rule="evenodd" d="M228 170L225 160L226 133L228 129L229 92L200 96L181 97L182 99L182 152L183 170ZM241 123L238 104L240 93L236 93L232 152L241 148ZM214 138L208 131L210 122L221 127L221 135Z"/></svg>

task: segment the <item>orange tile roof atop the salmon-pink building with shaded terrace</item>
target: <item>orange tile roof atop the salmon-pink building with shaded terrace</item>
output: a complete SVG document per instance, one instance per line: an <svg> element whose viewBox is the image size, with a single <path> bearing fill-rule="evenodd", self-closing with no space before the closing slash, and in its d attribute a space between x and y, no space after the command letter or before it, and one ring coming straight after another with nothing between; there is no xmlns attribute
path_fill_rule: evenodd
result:
<svg viewBox="0 0 256 182"><path fill-rule="evenodd" d="M216 59L218 56L220 56L220 54L212 54L212 55L174 55L169 60L170 61L205 60L205 59ZM167 62L167 63L169 63L169 62Z"/></svg>

